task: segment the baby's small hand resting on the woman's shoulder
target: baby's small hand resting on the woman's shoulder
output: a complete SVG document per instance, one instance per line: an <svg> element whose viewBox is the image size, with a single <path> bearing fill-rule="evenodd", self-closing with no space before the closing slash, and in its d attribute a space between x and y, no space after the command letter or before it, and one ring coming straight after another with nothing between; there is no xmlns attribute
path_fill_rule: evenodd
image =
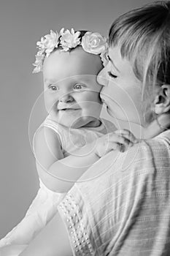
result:
<svg viewBox="0 0 170 256"><path fill-rule="evenodd" d="M124 152L137 143L138 140L128 129L120 129L115 132L109 132L107 135L98 138L96 146L96 154L103 157L112 150Z"/></svg>

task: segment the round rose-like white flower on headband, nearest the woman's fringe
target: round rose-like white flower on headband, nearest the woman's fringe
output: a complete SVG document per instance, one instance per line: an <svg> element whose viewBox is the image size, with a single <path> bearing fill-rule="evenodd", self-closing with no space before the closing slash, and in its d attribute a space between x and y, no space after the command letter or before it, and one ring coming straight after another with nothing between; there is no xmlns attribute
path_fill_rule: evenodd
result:
<svg viewBox="0 0 170 256"><path fill-rule="evenodd" d="M106 41L106 38L97 32L86 32L82 37L82 48L88 53L99 54L106 50Z"/></svg>

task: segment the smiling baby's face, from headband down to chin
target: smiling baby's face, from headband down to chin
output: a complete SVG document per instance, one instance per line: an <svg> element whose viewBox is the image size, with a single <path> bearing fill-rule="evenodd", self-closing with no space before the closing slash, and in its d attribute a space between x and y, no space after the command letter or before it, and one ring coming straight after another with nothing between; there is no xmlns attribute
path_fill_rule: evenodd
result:
<svg viewBox="0 0 170 256"><path fill-rule="evenodd" d="M101 86L96 75L102 69L99 56L81 47L56 50L44 61L45 106L55 121L66 127L91 126L101 112Z"/></svg>

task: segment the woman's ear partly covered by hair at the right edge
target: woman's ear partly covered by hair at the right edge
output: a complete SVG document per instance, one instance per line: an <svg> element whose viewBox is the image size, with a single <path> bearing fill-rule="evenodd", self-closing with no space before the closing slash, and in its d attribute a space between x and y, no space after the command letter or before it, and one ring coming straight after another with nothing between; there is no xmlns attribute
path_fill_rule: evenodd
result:
<svg viewBox="0 0 170 256"><path fill-rule="evenodd" d="M154 100L154 112L157 115L167 113L170 110L170 85L163 84Z"/></svg>

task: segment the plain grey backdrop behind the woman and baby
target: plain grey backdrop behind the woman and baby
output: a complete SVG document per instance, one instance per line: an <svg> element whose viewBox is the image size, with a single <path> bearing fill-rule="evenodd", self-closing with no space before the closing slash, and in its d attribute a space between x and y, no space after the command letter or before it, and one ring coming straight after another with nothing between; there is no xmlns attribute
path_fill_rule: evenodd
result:
<svg viewBox="0 0 170 256"><path fill-rule="evenodd" d="M41 75L31 73L36 41L62 27L107 36L118 15L149 2L1 0L0 238L23 218L39 184L30 140L46 113Z"/></svg>

